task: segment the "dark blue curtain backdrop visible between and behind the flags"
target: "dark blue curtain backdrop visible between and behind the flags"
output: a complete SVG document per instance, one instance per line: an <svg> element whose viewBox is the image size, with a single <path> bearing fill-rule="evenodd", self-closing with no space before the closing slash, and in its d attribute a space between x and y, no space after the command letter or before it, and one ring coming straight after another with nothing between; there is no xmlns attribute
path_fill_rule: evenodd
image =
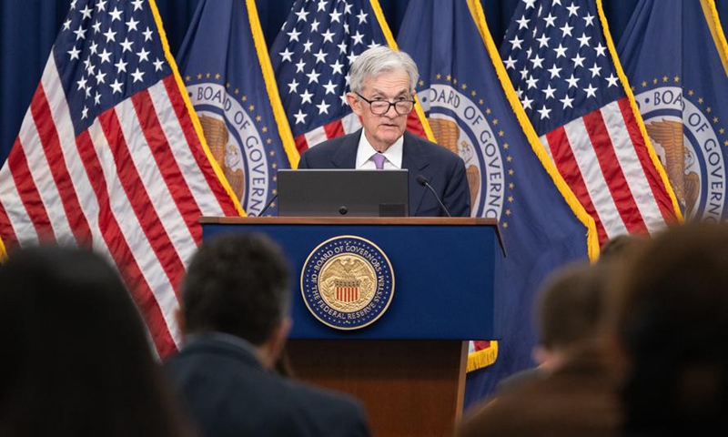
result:
<svg viewBox="0 0 728 437"><path fill-rule="evenodd" d="M198 0L157 0L172 53L177 54ZM241 0L242 1L242 0ZM270 45L294 0L258 0L266 41ZM428 0L411 0L428 1ZM481 0L496 44L521 0ZM602 0L615 44L639 0ZM410 0L379 0L394 36ZM40 80L45 60L66 17L71 0L3 0L0 2L0 165L13 146L25 110ZM723 27L728 0L716 0Z"/></svg>

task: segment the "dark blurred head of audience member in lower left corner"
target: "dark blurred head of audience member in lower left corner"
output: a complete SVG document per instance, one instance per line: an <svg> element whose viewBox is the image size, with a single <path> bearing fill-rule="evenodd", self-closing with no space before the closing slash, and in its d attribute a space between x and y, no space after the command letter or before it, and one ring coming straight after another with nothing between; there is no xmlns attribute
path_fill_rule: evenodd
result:
<svg viewBox="0 0 728 437"><path fill-rule="evenodd" d="M90 251L0 265L0 344L0 435L189 435L136 306Z"/></svg>

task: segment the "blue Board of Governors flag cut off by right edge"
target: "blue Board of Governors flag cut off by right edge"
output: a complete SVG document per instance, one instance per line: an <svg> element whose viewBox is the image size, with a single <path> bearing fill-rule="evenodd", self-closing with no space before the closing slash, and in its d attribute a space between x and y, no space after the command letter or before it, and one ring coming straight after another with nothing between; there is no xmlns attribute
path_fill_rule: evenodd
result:
<svg viewBox="0 0 728 437"><path fill-rule="evenodd" d="M713 0L642 0L618 47L687 219L728 218L728 46Z"/></svg>

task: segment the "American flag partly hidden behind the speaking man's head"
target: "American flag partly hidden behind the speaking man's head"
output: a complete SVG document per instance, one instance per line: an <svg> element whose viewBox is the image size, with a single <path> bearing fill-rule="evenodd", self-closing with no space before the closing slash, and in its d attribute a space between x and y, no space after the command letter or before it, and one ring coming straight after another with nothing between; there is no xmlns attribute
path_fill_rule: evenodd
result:
<svg viewBox="0 0 728 437"><path fill-rule="evenodd" d="M361 127L346 100L349 66L364 50L382 45L396 48L377 0L296 1L270 58L298 151ZM426 137L419 108L407 125Z"/></svg>

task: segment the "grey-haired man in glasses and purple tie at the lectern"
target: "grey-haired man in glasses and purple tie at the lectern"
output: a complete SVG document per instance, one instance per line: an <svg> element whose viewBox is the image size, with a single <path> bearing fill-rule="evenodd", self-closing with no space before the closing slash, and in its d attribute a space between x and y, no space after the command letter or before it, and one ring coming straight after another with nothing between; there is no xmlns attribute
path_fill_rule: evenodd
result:
<svg viewBox="0 0 728 437"><path fill-rule="evenodd" d="M469 217L470 191L462 159L406 131L418 78L417 66L406 53L385 46L364 51L351 65L351 92L346 95L363 128L311 147L298 168L406 168L410 216L447 215L437 198L426 193L430 188L421 183L424 178L451 216Z"/></svg>

